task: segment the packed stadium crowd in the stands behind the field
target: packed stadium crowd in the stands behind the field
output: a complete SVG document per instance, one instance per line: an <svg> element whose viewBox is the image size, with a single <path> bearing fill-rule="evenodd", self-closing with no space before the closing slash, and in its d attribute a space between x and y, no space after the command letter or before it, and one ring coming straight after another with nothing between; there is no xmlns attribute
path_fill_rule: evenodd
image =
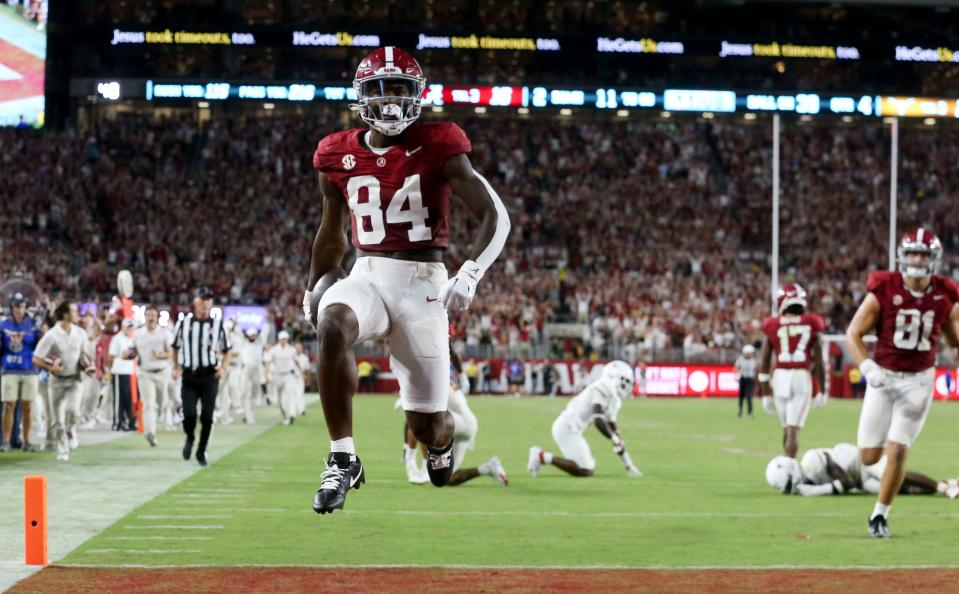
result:
<svg viewBox="0 0 959 594"><path fill-rule="evenodd" d="M0 202L0 278L96 299L129 268L146 301L185 307L209 284L221 302L269 305L277 330L305 335L299 301L320 213L310 160L343 122L324 109L215 115L201 128L191 112L121 115L86 134L0 131L0 193L11 197ZM713 122L464 122L474 166L506 200L514 231L473 306L452 319L457 348L695 360L758 340L769 308L769 126ZM887 144L879 123L783 132L783 278L806 286L832 332L845 328L866 272L886 263ZM959 143L940 128L907 128L901 155L900 227L933 227L951 274ZM200 203L219 215L193 216ZM453 213L455 269L476 225ZM548 340L551 321L588 331Z"/></svg>

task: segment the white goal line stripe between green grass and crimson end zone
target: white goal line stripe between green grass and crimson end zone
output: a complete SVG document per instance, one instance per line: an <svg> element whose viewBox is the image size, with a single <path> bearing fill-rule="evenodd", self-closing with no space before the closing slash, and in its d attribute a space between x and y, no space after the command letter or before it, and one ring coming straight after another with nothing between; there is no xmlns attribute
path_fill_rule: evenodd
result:
<svg viewBox="0 0 959 594"><path fill-rule="evenodd" d="M126 552L126 551L125 551ZM250 564L234 564L234 565L162 565L162 564L151 564L146 565L142 563L116 563L109 565L100 565L95 563L55 563L57 567L83 567L83 568L126 568L126 569L200 569L200 568L210 568L210 569L243 569L243 568L256 568L256 567L270 567L270 568L283 568L288 567L292 569L544 569L544 570L557 570L557 569L574 569L577 571L580 570L595 570L595 571L604 571L609 569L659 569L659 570L675 570L675 571L688 571L688 570L703 570L703 571L712 571L712 570L727 570L727 569L741 569L749 571L768 571L770 569L822 569L822 570L844 570L844 569L868 569L869 571L888 571L888 570L900 570L900 569L959 569L959 565L807 565L807 564L797 564L797 565L464 565L460 563L451 563L448 565L437 565L429 563L404 563L404 564L391 564L391 565L375 565L375 564L357 564L350 563L348 565L337 565L337 564L317 564L317 565L304 565L304 564L295 564L295 565L269 565L265 563L250 563Z"/></svg>

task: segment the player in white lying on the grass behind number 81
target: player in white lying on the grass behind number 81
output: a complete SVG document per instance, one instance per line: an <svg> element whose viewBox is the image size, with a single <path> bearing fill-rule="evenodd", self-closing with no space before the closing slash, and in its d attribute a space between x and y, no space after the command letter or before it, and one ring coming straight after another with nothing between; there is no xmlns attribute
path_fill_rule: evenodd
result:
<svg viewBox="0 0 959 594"><path fill-rule="evenodd" d="M844 493L878 493L886 457L866 466L859 450L851 443L837 443L831 448L807 451L801 462L787 456L776 456L766 466L766 482L784 494L807 497L842 495ZM950 499L959 496L956 479L939 481L918 472L907 472L899 489L901 495L933 495L942 493Z"/></svg>

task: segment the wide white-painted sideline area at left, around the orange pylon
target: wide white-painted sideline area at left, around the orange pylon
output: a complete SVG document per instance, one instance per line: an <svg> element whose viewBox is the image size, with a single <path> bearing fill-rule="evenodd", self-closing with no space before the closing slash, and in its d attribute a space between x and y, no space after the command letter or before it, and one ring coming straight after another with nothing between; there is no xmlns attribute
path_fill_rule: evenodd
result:
<svg viewBox="0 0 959 594"><path fill-rule="evenodd" d="M267 412L267 407L260 408ZM252 426L217 427L213 464L277 424L279 419ZM48 550L50 560L56 562L120 518L201 471L200 466L180 457L180 445L176 443L179 441L179 436L164 439L158 447L149 448L137 434L106 429L82 431L80 448L71 454L70 463L57 462L52 453L43 452L0 466L0 534L4 536L0 538L0 592L41 569L23 563L24 476L47 477ZM96 472L91 472L91 468ZM130 481L131 472L136 476L135 483ZM191 506L223 505L223 501L181 501Z"/></svg>

